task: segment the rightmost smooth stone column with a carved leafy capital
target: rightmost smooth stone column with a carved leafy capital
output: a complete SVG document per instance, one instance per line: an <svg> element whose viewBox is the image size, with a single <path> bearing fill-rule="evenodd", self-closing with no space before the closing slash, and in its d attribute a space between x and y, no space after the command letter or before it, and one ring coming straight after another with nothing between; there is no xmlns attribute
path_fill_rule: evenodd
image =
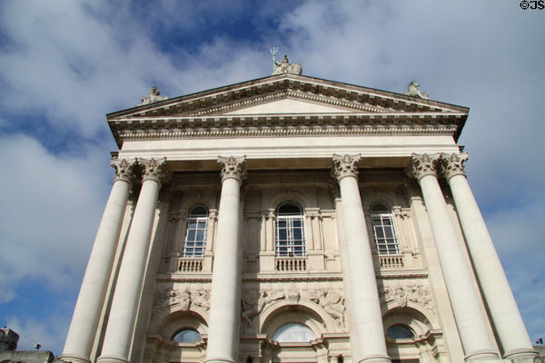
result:
<svg viewBox="0 0 545 363"><path fill-rule="evenodd" d="M532 362L537 352L532 347L509 281L466 179L463 163L467 158L466 153L442 154L442 172L451 186L473 268L500 338L504 357Z"/></svg>

